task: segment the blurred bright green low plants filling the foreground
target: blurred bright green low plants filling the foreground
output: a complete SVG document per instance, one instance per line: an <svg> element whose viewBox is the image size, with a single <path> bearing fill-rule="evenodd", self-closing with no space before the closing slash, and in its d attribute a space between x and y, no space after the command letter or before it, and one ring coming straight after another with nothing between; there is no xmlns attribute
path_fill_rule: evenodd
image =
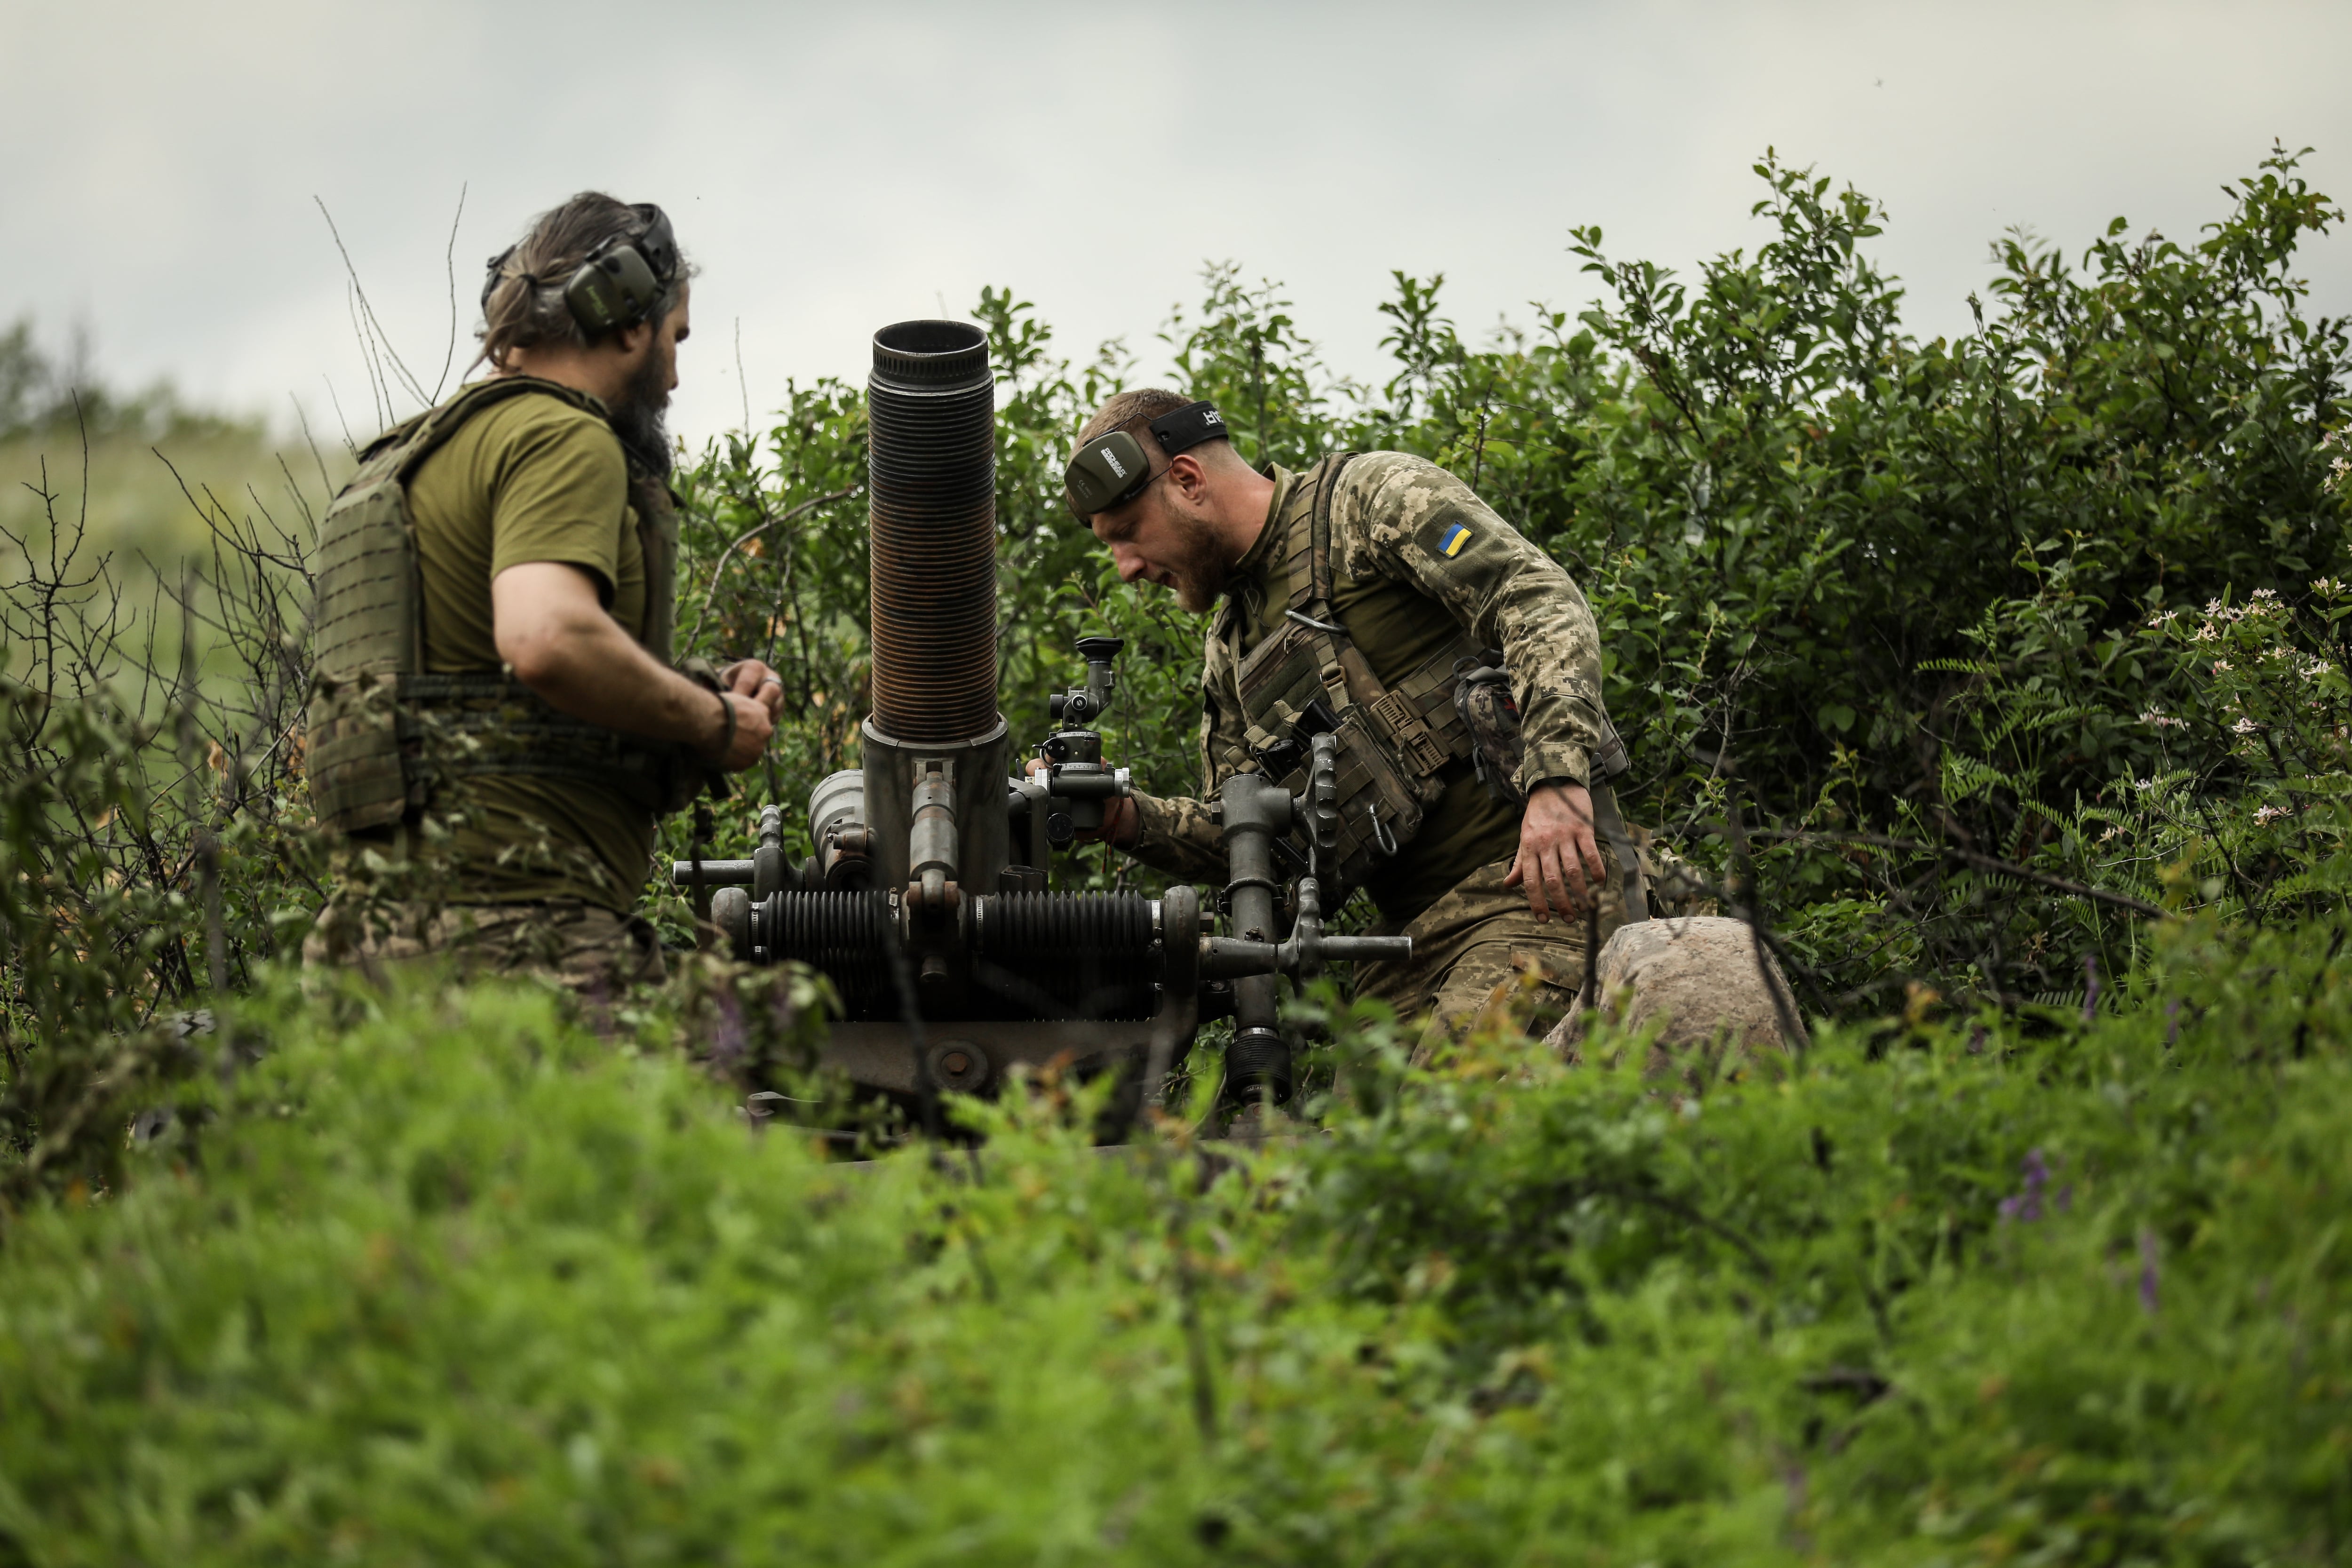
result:
<svg viewBox="0 0 2352 1568"><path fill-rule="evenodd" d="M1785 1070L1352 1016L1322 1138L1098 1152L1047 1084L880 1166L652 1025L270 992L209 1121L12 1227L0 1554L2336 1561L2319 936Z"/></svg>

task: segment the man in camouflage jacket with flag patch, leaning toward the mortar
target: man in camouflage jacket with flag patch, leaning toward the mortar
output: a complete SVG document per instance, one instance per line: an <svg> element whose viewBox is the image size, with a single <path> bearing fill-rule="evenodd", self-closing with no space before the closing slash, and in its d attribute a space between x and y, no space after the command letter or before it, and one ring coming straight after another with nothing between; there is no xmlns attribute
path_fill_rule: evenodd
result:
<svg viewBox="0 0 2352 1568"><path fill-rule="evenodd" d="M1223 780L1289 778L1315 733L1336 733L1334 891L1364 886L1381 929L1414 938L1357 990L1451 1034L1519 985L1538 1030L1557 1018L1590 926L1606 940L1644 900L1606 792L1623 748L1599 632L1569 574L1435 463L1367 451L1258 473L1211 404L1162 390L1087 421L1068 491L1120 578L1216 607L1202 799L1112 802L1103 837L1214 882Z"/></svg>

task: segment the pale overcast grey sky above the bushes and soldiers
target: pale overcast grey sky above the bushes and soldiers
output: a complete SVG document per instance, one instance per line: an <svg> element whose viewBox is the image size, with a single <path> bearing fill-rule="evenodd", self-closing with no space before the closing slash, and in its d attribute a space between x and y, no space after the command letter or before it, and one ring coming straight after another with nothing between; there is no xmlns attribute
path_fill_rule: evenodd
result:
<svg viewBox="0 0 2352 1568"><path fill-rule="evenodd" d="M1065 353L1152 331L1204 259L1277 277L1381 371L1390 268L1465 329L1588 296L1571 223L1677 268L1755 244L1776 146L1891 207L1929 331L1987 242L2124 214L2192 237L2277 136L2352 197L2352 5L729 5L0 0L0 322L82 322L101 371L374 423L341 223L430 383L482 256L579 188L659 200L703 266L689 440L863 376L877 324L1037 301ZM2310 252L2352 308L2352 249ZM748 388L734 371L741 322Z"/></svg>

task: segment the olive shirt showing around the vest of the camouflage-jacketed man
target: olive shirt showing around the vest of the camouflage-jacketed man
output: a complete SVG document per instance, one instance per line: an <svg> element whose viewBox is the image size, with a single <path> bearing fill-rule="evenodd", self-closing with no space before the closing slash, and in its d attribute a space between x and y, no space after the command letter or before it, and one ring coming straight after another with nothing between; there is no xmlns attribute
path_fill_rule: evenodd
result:
<svg viewBox="0 0 2352 1568"><path fill-rule="evenodd" d="M1282 614L1291 604L1289 576L1272 581L1282 571L1279 517L1289 505L1296 475L1282 475L1275 487L1265 527L1240 562L1235 578L1249 581L1254 611L1242 621L1242 651L1258 646L1282 625ZM1350 642L1381 677L1383 686L1395 686L1421 663L1461 635L1444 604L1416 590L1411 583L1390 578L1359 581L1345 574L1331 578L1331 614L1348 628ZM1510 860L1519 853L1519 806L1505 806L1479 783L1468 757L1446 762L1437 773L1444 792L1421 818L1421 832L1397 858L1376 865L1364 879L1364 891L1381 907L1388 926L1402 926L1482 865Z"/></svg>

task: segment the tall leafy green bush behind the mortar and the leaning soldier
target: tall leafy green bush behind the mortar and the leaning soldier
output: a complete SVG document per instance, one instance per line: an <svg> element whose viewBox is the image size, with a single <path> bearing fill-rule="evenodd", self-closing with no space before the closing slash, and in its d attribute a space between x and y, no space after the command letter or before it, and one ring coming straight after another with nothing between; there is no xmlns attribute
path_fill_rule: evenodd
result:
<svg viewBox="0 0 2352 1568"><path fill-rule="evenodd" d="M1884 1011L1912 985L2079 999L2084 959L2133 961L2117 910L2171 898L2239 914L2298 886L2324 849L2251 882L2232 863L2241 837L2279 842L2258 832L2274 820L2256 823L2260 806L2343 780L2340 748L2319 745L2352 717L2343 646L2314 583L2352 571L2336 487L2347 339L2305 313L2293 273L2298 242L2340 221L2333 202L2279 150L2194 244L2133 242L2117 219L2072 268L2013 237L1978 329L1922 341L1867 254L1877 205L1773 160L1757 174L1773 237L1755 256L1679 282L1576 230L1606 301L1489 346L1442 315L1442 277L1399 273L1381 308L1397 374L1378 390L1329 376L1289 301L1232 266L1209 268L1204 301L1160 336L1178 386L1214 397L1254 461L1421 451L1569 564L1632 743L1628 809L1717 877L1738 860L1731 806L1771 835L1752 886L1731 891L1783 926L1813 1011ZM974 315L1002 388L1014 733L1047 733L1075 635L1124 635L1112 750L1148 788L1188 792L1202 623L1117 588L1061 510L1070 435L1131 360L1122 343L1077 369L1056 360L1007 292ZM861 395L828 383L691 475L701 651L771 649L816 715L769 780L783 799L854 762L866 710L863 440ZM762 555L722 557L762 522ZM2234 717L2154 724L2218 708L2147 618L2258 590L2333 675L2310 693L2321 708L2293 708L2291 743L2249 769ZM2180 776L2166 823L2136 790L2159 773ZM2119 823L2124 844L2105 837Z"/></svg>

